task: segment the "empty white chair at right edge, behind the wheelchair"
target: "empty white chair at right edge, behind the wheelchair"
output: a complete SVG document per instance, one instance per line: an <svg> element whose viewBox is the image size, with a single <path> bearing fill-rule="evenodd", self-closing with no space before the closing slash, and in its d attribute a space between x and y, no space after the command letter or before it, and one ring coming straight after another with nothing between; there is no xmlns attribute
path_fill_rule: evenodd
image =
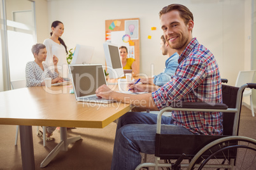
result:
<svg viewBox="0 0 256 170"><path fill-rule="evenodd" d="M253 76L255 74L255 70L250 71L239 71L238 77L236 79L236 87L240 87L245 83L253 82ZM246 88L243 92L243 97L250 96L250 105L252 110L252 116L254 117L254 110L253 110L253 102L252 102L252 89Z"/></svg>

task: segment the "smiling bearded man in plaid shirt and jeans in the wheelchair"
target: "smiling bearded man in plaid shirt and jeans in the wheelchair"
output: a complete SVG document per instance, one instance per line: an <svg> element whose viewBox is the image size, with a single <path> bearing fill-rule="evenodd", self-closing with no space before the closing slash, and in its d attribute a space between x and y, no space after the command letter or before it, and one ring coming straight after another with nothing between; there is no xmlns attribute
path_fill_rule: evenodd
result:
<svg viewBox="0 0 256 170"><path fill-rule="evenodd" d="M117 93L103 85L97 89L97 96L152 110L184 101L222 103L218 64L211 51L192 37L193 14L181 4L170 4L162 8L159 16L166 41L180 55L171 81L157 91L150 91L143 84L130 86L131 91L149 92L141 95ZM141 163L140 152L154 154L156 124L155 114L128 112L120 117L111 169L135 169ZM223 133L222 112L173 111L171 117L162 116L162 124L162 134Z"/></svg>

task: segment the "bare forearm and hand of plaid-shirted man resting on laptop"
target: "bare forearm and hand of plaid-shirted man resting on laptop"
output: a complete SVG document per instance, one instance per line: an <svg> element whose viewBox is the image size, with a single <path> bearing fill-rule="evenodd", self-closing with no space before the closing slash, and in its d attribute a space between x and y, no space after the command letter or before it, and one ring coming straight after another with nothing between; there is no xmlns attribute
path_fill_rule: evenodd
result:
<svg viewBox="0 0 256 170"><path fill-rule="evenodd" d="M128 103L136 107L159 110L156 107L155 102L153 101L151 93L141 95L129 95L112 91L110 88L108 88L108 86L103 85L96 90L96 95L101 98L113 99L122 103Z"/></svg>

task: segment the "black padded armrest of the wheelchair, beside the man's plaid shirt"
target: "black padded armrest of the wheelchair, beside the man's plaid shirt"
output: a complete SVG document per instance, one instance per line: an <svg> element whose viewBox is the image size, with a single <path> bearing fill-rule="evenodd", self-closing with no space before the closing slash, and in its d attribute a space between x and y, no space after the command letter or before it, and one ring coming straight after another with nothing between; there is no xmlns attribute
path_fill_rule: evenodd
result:
<svg viewBox="0 0 256 170"><path fill-rule="evenodd" d="M227 110L228 107L224 103L182 102L181 105L174 105L173 108L202 108Z"/></svg>

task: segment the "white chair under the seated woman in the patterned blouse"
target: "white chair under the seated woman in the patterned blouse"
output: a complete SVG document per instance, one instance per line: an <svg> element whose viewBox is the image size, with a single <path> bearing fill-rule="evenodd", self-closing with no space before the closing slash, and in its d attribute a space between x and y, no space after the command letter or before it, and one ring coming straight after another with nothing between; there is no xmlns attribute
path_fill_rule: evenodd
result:
<svg viewBox="0 0 256 170"><path fill-rule="evenodd" d="M25 88L25 80L17 80L17 81L11 81L11 89L20 89L20 88ZM45 126L43 128L43 134L46 133L46 128ZM37 132L39 131L39 126L37 129ZM46 141L46 136L43 135L43 146L45 147L45 141ZM16 137L15 137L15 146L17 146L18 142L18 125L16 128Z"/></svg>

